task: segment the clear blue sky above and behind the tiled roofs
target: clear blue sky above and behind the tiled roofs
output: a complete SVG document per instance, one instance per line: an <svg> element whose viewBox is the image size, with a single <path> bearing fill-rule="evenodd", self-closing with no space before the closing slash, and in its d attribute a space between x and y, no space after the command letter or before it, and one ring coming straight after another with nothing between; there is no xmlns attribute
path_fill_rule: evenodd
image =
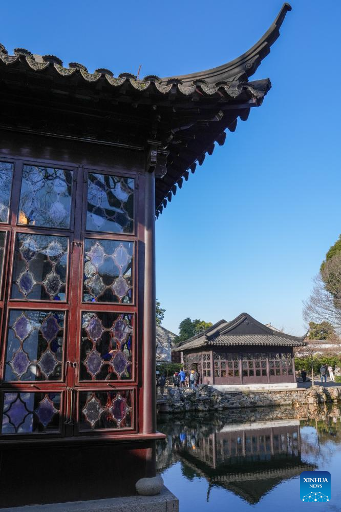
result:
<svg viewBox="0 0 341 512"><path fill-rule="evenodd" d="M341 232L341 2L293 0L252 79L263 106L239 121L157 221L164 326L247 311L304 331L302 300ZM116 75L169 76L218 66L250 48L282 2L7 2L0 41Z"/></svg>

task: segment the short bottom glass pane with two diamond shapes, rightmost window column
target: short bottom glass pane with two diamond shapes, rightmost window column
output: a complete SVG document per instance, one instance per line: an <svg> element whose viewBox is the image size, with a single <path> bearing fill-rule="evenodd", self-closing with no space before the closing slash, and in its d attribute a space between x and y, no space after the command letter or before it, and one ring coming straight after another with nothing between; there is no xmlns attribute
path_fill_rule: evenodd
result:
<svg viewBox="0 0 341 512"><path fill-rule="evenodd" d="M132 427L132 391L85 391L79 393L79 428Z"/></svg>

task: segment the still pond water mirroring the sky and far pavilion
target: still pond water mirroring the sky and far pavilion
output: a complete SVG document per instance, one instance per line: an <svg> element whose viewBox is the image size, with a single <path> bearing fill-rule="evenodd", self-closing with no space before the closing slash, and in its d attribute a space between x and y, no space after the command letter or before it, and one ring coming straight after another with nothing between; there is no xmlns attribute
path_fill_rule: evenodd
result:
<svg viewBox="0 0 341 512"><path fill-rule="evenodd" d="M338 407L159 414L157 469L180 512L341 511ZM300 500L300 474L331 474L328 503Z"/></svg>

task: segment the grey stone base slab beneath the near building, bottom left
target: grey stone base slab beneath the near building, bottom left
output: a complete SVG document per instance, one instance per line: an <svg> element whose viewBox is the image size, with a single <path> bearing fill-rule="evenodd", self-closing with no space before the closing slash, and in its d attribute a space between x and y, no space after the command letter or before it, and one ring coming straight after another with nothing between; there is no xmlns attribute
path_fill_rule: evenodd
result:
<svg viewBox="0 0 341 512"><path fill-rule="evenodd" d="M179 512L179 500L165 486L157 496L128 496L0 508L1 512Z"/></svg>

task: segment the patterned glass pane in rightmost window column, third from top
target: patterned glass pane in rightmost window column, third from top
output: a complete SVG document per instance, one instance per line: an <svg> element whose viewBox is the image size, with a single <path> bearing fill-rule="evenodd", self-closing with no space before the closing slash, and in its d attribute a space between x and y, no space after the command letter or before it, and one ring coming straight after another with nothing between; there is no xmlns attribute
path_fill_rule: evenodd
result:
<svg viewBox="0 0 341 512"><path fill-rule="evenodd" d="M132 378L133 315L82 314L80 380Z"/></svg>

